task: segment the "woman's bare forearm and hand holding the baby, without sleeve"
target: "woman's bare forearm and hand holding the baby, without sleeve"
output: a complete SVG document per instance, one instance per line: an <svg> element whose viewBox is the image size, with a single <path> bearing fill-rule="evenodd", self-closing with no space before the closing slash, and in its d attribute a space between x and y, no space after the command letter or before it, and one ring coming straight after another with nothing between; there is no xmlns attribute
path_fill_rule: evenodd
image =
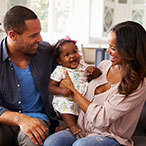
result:
<svg viewBox="0 0 146 146"><path fill-rule="evenodd" d="M67 72L65 72L65 75L66 78L61 81L60 87L68 87L73 92L74 101L84 112L86 112L90 102L74 88L74 85Z"/></svg>

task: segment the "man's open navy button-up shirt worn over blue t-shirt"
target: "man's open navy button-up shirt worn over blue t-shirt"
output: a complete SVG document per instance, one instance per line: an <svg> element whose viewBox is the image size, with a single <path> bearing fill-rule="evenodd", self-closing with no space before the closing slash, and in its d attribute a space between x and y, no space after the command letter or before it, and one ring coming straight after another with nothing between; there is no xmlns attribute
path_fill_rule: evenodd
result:
<svg viewBox="0 0 146 146"><path fill-rule="evenodd" d="M40 92L45 114L51 119L52 106L48 93L50 74L56 67L52 47L41 42L29 64L32 77ZM21 85L7 53L6 38L0 42L0 115L7 111L22 111Z"/></svg>

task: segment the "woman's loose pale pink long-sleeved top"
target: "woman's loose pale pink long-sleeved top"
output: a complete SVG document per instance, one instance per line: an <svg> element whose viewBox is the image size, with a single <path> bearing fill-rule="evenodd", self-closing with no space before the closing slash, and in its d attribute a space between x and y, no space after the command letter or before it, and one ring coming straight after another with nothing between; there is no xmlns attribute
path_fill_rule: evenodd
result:
<svg viewBox="0 0 146 146"><path fill-rule="evenodd" d="M85 97L91 102L86 113L81 111L78 126L84 136L102 135L115 138L120 144L133 146L134 133L146 99L146 78L136 91L125 98L118 93L118 84L112 84L106 92L94 95L96 87L107 83L109 60L99 64L102 75L91 81Z"/></svg>

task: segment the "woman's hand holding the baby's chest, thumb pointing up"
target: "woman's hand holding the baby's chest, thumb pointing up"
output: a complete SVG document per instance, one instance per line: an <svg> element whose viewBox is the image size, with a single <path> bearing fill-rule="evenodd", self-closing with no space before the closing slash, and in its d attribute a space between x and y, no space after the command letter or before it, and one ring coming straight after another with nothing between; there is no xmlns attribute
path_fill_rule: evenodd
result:
<svg viewBox="0 0 146 146"><path fill-rule="evenodd" d="M68 72L67 71L64 71L65 73L65 79L63 79L60 83L60 87L66 87L66 88L69 88L70 90L74 90L74 85L68 75Z"/></svg>

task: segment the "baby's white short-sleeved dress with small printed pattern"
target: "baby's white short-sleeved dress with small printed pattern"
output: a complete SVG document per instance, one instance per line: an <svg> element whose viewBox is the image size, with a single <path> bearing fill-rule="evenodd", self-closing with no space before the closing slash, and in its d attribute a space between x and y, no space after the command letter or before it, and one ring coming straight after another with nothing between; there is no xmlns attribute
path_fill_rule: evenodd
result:
<svg viewBox="0 0 146 146"><path fill-rule="evenodd" d="M68 71L68 74L76 90L80 94L84 95L86 93L88 86L87 76L85 74L85 69L87 67L88 65L82 60L80 61L76 69L70 69L58 65L56 69L53 71L53 73L51 74L51 79L57 82L61 82L61 80L65 78L64 71L66 70ZM78 115L80 112L77 104L74 102L71 96L65 97L62 95L54 95L52 104L55 111L58 111L61 114L66 113L66 114Z"/></svg>

